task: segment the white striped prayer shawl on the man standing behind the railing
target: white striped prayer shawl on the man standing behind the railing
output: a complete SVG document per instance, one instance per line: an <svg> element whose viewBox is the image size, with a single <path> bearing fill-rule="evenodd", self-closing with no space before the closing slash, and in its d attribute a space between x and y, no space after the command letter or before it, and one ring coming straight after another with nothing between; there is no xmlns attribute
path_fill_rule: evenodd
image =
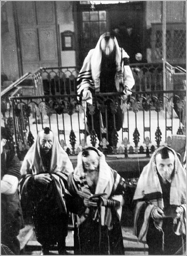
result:
<svg viewBox="0 0 187 256"><path fill-rule="evenodd" d="M81 94L82 90L87 87L94 89L95 92L100 92L100 67L102 58L100 41L105 37L105 35L106 33L100 36L96 48L91 49L88 52L88 55L83 62L83 66L77 78L77 82L79 83L77 86L78 95ZM129 89L131 89L134 85L132 71L128 65L124 65L124 62L121 61L121 58L129 58L129 56L127 55L127 52L124 51L124 49L119 47L115 37L114 43L116 50L115 85L117 91L119 91L120 83L123 83L124 87L127 86Z"/></svg>

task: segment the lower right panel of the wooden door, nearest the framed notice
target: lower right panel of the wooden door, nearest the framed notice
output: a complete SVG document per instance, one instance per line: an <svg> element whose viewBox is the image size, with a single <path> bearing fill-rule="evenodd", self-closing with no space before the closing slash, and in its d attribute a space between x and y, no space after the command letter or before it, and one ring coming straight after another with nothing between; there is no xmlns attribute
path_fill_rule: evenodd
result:
<svg viewBox="0 0 187 256"><path fill-rule="evenodd" d="M55 26L39 28L40 60L57 60L57 38Z"/></svg>

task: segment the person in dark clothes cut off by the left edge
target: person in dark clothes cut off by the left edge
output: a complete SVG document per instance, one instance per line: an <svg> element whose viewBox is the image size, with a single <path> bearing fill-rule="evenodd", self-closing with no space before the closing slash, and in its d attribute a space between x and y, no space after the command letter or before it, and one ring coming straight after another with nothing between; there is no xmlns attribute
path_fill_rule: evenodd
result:
<svg viewBox="0 0 187 256"><path fill-rule="evenodd" d="M24 226L18 193L21 163L14 151L5 149L7 139L6 129L1 127L1 255L7 255L10 250L20 255L17 235Z"/></svg>

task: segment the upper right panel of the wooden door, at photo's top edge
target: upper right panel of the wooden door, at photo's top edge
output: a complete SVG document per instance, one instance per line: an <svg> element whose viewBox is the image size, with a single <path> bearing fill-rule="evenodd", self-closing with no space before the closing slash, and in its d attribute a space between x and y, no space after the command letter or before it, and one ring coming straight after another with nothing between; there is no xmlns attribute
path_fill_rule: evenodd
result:
<svg viewBox="0 0 187 256"><path fill-rule="evenodd" d="M54 2L36 1L38 24L55 23Z"/></svg>

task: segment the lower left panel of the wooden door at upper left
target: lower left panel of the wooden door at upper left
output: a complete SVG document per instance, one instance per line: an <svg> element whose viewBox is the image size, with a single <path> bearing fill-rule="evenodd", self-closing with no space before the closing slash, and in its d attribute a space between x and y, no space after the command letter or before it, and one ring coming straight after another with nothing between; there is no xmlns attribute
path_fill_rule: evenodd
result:
<svg viewBox="0 0 187 256"><path fill-rule="evenodd" d="M39 61L37 30L35 28L22 30L20 37L23 61Z"/></svg>

